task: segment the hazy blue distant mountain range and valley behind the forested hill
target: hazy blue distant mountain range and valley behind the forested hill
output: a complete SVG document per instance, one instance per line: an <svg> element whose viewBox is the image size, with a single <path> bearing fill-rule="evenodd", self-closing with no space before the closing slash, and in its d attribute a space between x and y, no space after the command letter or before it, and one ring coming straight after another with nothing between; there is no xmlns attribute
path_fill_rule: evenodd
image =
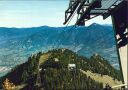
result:
<svg viewBox="0 0 128 90"><path fill-rule="evenodd" d="M0 28L0 73L21 64L39 51L68 48L90 57L98 53L118 67L113 28L92 24L88 27Z"/></svg>

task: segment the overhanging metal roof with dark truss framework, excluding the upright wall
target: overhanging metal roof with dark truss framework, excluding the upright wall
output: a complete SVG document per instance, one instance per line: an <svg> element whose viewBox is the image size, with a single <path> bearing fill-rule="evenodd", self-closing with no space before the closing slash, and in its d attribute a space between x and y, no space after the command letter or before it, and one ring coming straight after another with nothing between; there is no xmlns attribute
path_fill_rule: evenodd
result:
<svg viewBox="0 0 128 90"><path fill-rule="evenodd" d="M84 25L84 21L102 15L106 19L118 8L124 0L70 0L69 8L65 11L65 22L69 22L75 11L78 14L76 25ZM84 21L81 21L84 20Z"/></svg>

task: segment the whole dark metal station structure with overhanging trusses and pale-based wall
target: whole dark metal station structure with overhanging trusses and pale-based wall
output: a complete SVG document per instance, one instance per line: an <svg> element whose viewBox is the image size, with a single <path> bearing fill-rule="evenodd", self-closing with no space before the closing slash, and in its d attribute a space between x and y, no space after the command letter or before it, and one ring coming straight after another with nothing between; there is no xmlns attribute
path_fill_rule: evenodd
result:
<svg viewBox="0 0 128 90"><path fill-rule="evenodd" d="M69 8L65 11L67 24L77 13L78 20L75 25L85 25L85 22L97 16L103 19L111 16L120 68L124 84L128 88L128 0L70 0ZM114 86L118 87L118 86Z"/></svg>

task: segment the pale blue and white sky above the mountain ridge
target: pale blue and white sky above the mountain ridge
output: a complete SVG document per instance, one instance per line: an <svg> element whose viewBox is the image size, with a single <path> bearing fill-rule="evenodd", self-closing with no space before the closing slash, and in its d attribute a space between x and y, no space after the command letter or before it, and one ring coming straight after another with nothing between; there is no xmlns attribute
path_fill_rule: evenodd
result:
<svg viewBox="0 0 128 90"><path fill-rule="evenodd" d="M0 0L0 27L64 26L65 10L69 0ZM69 25L74 25L76 16ZM111 18L102 17L86 22L111 24Z"/></svg>

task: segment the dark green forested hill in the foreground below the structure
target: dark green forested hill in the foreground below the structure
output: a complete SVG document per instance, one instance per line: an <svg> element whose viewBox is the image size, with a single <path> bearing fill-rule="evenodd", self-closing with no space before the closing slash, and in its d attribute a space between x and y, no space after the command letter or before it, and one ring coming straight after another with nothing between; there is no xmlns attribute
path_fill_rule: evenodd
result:
<svg viewBox="0 0 128 90"><path fill-rule="evenodd" d="M98 82L91 76L83 73L90 71L107 75L113 80L120 81L120 71L114 69L107 60L100 55L91 58L79 56L68 49L54 49L46 53L39 52L28 58L28 61L16 66L4 77L21 90L101 90L106 82ZM3 84L4 85L4 84ZM39 89L40 88L40 89Z"/></svg>

